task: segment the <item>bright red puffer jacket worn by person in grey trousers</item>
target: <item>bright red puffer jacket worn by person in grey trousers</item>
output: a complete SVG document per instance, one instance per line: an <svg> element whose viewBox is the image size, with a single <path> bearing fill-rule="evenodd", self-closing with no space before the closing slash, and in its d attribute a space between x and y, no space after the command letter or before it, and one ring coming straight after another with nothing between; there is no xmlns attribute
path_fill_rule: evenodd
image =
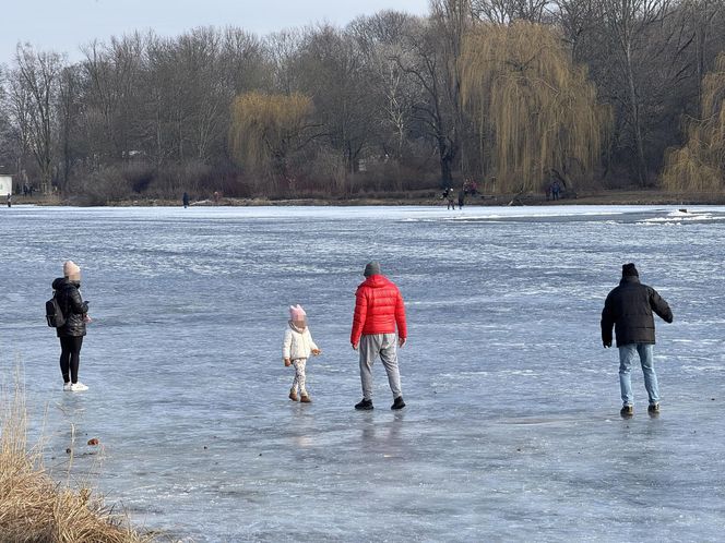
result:
<svg viewBox="0 0 725 543"><path fill-rule="evenodd" d="M357 345L362 334L395 334L407 338L405 306L401 291L383 275L373 275L360 283L355 292L355 316L350 343Z"/></svg>

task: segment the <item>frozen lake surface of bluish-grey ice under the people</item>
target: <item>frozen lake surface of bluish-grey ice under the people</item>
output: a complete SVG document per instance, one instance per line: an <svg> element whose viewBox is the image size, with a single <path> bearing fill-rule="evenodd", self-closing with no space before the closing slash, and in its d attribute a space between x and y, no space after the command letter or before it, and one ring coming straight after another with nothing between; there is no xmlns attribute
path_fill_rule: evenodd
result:
<svg viewBox="0 0 725 543"><path fill-rule="evenodd" d="M57 479L72 445L71 479L182 541L722 541L724 228L724 207L0 209L0 373L22 362ZM67 258L95 318L81 394L44 319ZM369 260L406 299L402 412L379 362L353 409ZM657 419L639 367L619 418L599 340L630 261L675 313ZM290 303L324 351L309 406Z"/></svg>

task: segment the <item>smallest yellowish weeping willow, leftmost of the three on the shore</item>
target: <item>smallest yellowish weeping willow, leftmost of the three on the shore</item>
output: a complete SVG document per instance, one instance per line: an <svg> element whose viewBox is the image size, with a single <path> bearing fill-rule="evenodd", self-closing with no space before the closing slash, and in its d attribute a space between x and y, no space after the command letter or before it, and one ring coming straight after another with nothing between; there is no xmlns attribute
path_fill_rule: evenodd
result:
<svg viewBox="0 0 725 543"><path fill-rule="evenodd" d="M311 138L312 100L301 94L246 93L231 105L229 142L248 171L293 182L290 157Z"/></svg>

